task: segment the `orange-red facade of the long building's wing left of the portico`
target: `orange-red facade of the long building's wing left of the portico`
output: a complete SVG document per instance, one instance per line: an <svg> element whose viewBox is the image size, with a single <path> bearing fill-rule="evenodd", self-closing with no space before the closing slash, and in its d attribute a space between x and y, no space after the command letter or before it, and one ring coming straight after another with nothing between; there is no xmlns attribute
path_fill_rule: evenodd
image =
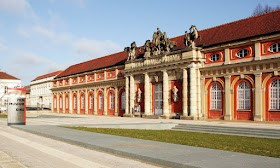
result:
<svg viewBox="0 0 280 168"><path fill-rule="evenodd" d="M121 93L124 67L92 71L55 79L52 83L53 112L123 116Z"/></svg>

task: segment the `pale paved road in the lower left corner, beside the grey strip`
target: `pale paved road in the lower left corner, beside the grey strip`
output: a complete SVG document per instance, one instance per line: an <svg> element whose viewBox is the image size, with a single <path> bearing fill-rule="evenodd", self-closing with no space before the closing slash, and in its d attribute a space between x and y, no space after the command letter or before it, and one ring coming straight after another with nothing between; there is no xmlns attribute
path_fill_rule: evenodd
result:
<svg viewBox="0 0 280 168"><path fill-rule="evenodd" d="M0 120L0 139L3 168L157 167L16 130L5 119Z"/></svg>

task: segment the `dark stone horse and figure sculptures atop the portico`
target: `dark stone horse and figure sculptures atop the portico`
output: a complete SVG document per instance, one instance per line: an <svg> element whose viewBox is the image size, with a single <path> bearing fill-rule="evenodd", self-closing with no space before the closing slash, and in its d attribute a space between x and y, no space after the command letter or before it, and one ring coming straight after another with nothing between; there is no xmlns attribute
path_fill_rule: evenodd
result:
<svg viewBox="0 0 280 168"><path fill-rule="evenodd" d="M194 48L195 47L195 39L198 38L198 31L194 25L190 27L190 32L185 32L184 43L187 48ZM166 32L162 33L159 28L153 34L152 41L146 40L144 46L139 48L140 52L141 49L144 50L144 58L149 58L153 56L158 56L160 54L167 54L173 51L176 47L176 42L171 41L167 38ZM136 59L136 43L131 43L130 47L126 47L124 51L128 53L128 61Z"/></svg>

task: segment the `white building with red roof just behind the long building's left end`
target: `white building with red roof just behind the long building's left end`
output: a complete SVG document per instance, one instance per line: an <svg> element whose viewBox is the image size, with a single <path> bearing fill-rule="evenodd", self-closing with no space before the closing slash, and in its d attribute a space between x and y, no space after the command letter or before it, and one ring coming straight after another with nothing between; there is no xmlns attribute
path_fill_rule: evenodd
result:
<svg viewBox="0 0 280 168"><path fill-rule="evenodd" d="M62 71L36 77L30 84L30 106L49 108L52 105L52 80Z"/></svg>

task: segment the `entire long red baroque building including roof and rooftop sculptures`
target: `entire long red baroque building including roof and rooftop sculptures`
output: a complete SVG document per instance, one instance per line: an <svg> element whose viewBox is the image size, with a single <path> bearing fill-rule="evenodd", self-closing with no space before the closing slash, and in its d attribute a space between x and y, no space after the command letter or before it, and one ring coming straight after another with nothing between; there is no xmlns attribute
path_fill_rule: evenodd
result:
<svg viewBox="0 0 280 168"><path fill-rule="evenodd" d="M280 10L72 65L53 112L280 121Z"/></svg>

